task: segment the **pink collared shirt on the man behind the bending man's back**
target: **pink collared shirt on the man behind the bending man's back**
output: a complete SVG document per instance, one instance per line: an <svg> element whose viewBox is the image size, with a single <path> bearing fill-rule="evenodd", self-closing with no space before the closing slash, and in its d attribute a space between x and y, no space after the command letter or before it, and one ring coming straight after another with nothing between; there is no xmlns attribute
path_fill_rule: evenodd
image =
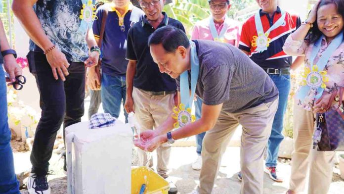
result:
<svg viewBox="0 0 344 194"><path fill-rule="evenodd" d="M239 40L240 40L240 24L239 22L232 20L230 18L227 18L224 20L224 22L227 23L227 30L224 34L224 40L226 43L234 45L235 47L239 46ZM220 34L223 24L217 24L215 23L215 29L217 31L217 34ZM195 27L192 31L191 40L210 40L213 41L214 38L212 36L212 32L209 27L209 18L206 18L204 20L198 21L195 24Z"/></svg>

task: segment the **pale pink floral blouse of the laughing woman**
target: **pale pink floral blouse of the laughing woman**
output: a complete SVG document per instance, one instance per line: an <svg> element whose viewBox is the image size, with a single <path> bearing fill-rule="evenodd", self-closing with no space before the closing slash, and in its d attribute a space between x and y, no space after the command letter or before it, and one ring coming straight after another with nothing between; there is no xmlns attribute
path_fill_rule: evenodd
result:
<svg viewBox="0 0 344 194"><path fill-rule="evenodd" d="M294 41L292 36L289 35L289 37L286 40L286 43L284 44L283 50L290 55L305 56L305 67L312 69L312 64L310 64L309 58L313 47L314 44L308 45L305 41ZM327 47L328 43L324 38L321 42L320 51L317 53L313 61L315 64L319 60L322 52L324 52ZM344 42L333 52L324 70L327 71L326 77L329 78L329 81L325 82L326 92L332 92L334 90L338 90L339 87L344 87ZM314 105L315 100L314 97L316 95L316 90L309 90L304 100L299 101L298 105L301 105L306 110L312 111L312 107Z"/></svg>

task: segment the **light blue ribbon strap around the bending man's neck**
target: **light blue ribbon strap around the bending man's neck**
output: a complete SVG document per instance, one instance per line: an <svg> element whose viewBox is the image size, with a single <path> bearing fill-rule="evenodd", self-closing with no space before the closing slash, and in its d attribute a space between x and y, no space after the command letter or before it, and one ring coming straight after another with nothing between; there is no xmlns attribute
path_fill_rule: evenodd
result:
<svg viewBox="0 0 344 194"><path fill-rule="evenodd" d="M198 74L200 70L200 61L197 56L196 45L190 41L190 63L191 63L191 96L189 92L188 71L184 71L180 75L180 98L181 103L185 104L185 108L192 107L193 97L196 91Z"/></svg>

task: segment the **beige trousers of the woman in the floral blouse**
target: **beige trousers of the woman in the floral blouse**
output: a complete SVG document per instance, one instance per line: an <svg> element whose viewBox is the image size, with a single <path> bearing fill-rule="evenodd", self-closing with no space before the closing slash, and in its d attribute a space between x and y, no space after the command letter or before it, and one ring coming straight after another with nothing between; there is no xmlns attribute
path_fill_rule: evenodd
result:
<svg viewBox="0 0 344 194"><path fill-rule="evenodd" d="M309 171L308 194L327 194L332 181L334 151L312 148L316 114L294 105L294 151L290 190L302 192Z"/></svg>

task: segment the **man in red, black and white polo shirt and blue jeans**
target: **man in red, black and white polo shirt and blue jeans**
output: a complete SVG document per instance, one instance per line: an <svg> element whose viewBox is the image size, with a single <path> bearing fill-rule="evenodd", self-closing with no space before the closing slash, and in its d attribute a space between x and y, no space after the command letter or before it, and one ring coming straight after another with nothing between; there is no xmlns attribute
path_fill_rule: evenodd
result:
<svg viewBox="0 0 344 194"><path fill-rule="evenodd" d="M278 7L277 0L256 1L261 9L243 24L239 48L266 71L279 91L279 105L267 144L265 172L272 180L282 182L276 175L277 156L284 139L283 116L290 91L290 69L298 65L282 47L287 37L301 25L301 20ZM241 173L238 178L242 179Z"/></svg>

